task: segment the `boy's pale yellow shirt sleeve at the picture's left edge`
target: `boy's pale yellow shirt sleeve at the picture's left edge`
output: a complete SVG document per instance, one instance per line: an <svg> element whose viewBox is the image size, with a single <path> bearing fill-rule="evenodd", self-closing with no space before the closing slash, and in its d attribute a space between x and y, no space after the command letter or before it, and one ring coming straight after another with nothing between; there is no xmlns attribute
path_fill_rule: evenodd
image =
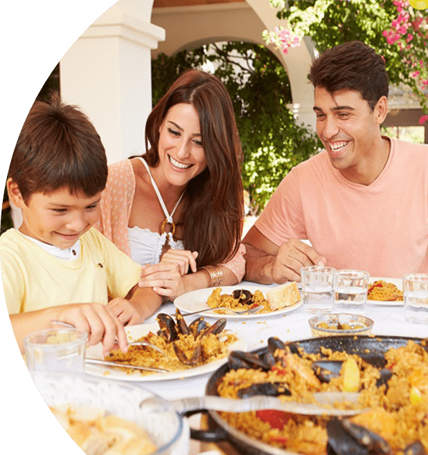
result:
<svg viewBox="0 0 428 455"><path fill-rule="evenodd" d="M8 314L21 313L25 295L24 274L12 252L3 248L1 249L1 279Z"/></svg>

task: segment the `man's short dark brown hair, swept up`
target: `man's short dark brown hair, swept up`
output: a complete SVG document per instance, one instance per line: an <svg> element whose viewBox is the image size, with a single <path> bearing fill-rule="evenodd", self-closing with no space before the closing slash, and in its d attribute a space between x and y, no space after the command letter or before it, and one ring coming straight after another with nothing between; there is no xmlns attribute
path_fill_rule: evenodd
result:
<svg viewBox="0 0 428 455"><path fill-rule="evenodd" d="M388 97L389 78L384 59L361 41L349 41L326 50L313 63L309 78L314 87L329 93L358 91L370 109L380 97Z"/></svg>

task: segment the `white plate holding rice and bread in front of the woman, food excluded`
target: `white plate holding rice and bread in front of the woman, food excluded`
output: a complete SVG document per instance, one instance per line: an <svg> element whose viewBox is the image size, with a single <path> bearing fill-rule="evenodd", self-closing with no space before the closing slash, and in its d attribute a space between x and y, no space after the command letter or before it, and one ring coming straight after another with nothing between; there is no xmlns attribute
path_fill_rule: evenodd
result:
<svg viewBox="0 0 428 455"><path fill-rule="evenodd" d="M245 289L249 290L250 293L254 293L256 290L261 290L263 292L263 286L220 286L222 290L222 294L231 294L236 289ZM193 313L193 311L205 310L206 308L210 308L206 301L208 297L211 295L214 289L217 288L204 288L193 290L190 293L186 293L180 295L175 299L174 304L175 306L184 313ZM269 288L265 288L269 289ZM216 313L215 311L206 311L202 313L201 316L207 317L225 317L226 319L255 319L257 317L269 317L269 316L278 316L284 313L288 313L289 311L295 310L299 306L301 306L302 301L298 301L295 305L292 306L285 306L284 308L280 308L279 310L271 311L269 313L253 313L252 315L234 315L233 313Z"/></svg>

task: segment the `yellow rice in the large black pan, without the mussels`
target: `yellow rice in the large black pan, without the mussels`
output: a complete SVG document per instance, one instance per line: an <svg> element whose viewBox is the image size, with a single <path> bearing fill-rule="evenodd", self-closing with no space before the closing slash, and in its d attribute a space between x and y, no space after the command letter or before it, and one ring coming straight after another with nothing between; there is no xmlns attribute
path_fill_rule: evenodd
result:
<svg viewBox="0 0 428 455"><path fill-rule="evenodd" d="M422 342L425 345L425 342ZM355 423L380 434L387 440L394 454L402 454L402 449L410 443L420 440L428 451L428 353L420 345L409 341L407 346L390 349L385 358L385 368L391 369L392 378L385 386L376 386L380 373L375 367L367 364L358 355L333 352L321 349L323 360L346 360L353 357L357 361L361 380L359 407L371 408L364 414L352 418ZM278 355L279 351L277 351ZM311 364L320 360L320 355L292 356L291 368L277 362L274 371L255 369L231 370L217 387L220 396L238 398L237 391L258 382L283 382L292 392L283 400L314 402L315 391L341 391L342 373L339 378L329 383L317 385L311 378ZM415 395L415 389L417 391ZM352 405L348 405L352 407ZM283 429L274 429L256 415L256 412L231 414L222 412L222 418L236 429L252 438L264 441L269 445L306 455L326 454L328 440L326 423L328 418L292 415Z"/></svg>

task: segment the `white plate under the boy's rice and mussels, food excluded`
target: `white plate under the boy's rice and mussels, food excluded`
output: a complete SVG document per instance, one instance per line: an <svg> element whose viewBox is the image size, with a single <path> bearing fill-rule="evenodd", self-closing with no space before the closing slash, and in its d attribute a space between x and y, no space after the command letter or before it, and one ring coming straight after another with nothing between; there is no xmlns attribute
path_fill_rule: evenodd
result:
<svg viewBox="0 0 428 455"><path fill-rule="evenodd" d="M138 340L139 338L147 335L150 331L156 333L159 330L159 325L156 322L152 324L140 324L138 326L126 327L125 331L127 333L127 338L129 342ZM238 341L228 346L229 351L246 351L247 342L238 338ZM102 346L100 343L95 346L89 346L86 350L87 358L104 360L102 355ZM211 373L217 368L222 366L222 364L227 362L227 356L225 358L215 360L208 364L202 366L195 366L195 368L190 368L181 371L170 371L167 373L153 373L149 375L141 375L139 371L135 371L132 374L125 373L123 370L116 369L110 366L96 365L96 364L86 364L84 366L84 372L93 376L98 376L98 378L106 379L116 379L123 381L160 381L160 380L171 380L171 379L181 379L181 378L190 378L192 376L202 375L204 373Z"/></svg>

